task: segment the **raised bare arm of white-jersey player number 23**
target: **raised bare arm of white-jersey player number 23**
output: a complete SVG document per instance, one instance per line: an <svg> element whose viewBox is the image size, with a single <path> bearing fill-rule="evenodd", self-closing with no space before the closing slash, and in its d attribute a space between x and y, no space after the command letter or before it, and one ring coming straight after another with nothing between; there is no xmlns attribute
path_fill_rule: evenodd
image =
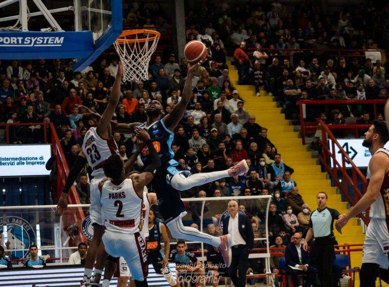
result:
<svg viewBox="0 0 389 287"><path fill-rule="evenodd" d="M111 119L113 113L115 112L115 108L119 103L120 99L120 84L123 76L123 66L122 63L119 62L118 74L116 74L115 81L112 86L112 92L110 94L108 105L103 112L98 124L97 124L97 133L102 135L104 138L110 138L111 136Z"/></svg>

